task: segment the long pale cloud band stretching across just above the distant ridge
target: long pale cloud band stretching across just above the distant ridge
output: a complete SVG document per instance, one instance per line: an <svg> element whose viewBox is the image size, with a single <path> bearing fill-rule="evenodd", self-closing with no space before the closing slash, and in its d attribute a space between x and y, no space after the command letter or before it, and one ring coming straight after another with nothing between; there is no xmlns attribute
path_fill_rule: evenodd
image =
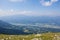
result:
<svg viewBox="0 0 60 40"><path fill-rule="evenodd" d="M20 11L20 10L1 10L0 17L11 16L11 15L26 15L26 16L60 16L60 13L56 11L51 12L35 12L35 11Z"/></svg>

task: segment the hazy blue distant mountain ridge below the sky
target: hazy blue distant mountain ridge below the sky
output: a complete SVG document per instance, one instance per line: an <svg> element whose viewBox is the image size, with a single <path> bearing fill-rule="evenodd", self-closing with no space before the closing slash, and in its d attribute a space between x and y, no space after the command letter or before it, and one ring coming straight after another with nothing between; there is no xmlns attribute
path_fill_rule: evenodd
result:
<svg viewBox="0 0 60 40"><path fill-rule="evenodd" d="M49 17L49 16L25 16L25 15L14 15L14 16L6 16L1 17L1 20L4 20L6 22L10 23L55 23L56 25L60 25L60 17Z"/></svg>

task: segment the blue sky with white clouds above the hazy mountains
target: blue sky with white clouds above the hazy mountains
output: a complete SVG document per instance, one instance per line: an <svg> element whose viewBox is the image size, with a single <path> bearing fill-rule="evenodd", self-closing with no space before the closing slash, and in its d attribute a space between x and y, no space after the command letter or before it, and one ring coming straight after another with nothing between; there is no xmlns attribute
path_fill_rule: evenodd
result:
<svg viewBox="0 0 60 40"><path fill-rule="evenodd" d="M60 0L0 0L0 17L60 16Z"/></svg>

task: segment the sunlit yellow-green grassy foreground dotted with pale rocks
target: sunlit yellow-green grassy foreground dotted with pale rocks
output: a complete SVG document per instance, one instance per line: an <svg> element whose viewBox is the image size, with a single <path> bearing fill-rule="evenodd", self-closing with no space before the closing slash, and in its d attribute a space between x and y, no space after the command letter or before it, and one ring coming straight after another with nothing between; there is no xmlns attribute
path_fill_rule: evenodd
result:
<svg viewBox="0 0 60 40"><path fill-rule="evenodd" d="M43 33L32 35L0 34L0 40L60 40L60 33Z"/></svg>

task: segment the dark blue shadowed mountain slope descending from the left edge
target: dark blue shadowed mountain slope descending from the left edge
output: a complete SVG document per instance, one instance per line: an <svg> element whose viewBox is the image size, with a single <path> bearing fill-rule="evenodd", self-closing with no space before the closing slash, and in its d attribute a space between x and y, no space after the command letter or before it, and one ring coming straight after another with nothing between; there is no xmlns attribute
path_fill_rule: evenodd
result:
<svg viewBox="0 0 60 40"><path fill-rule="evenodd" d="M13 34L13 35L14 34L28 34L28 33L23 32L22 30L12 28L13 26L15 25L11 25L7 22L0 20L0 34Z"/></svg>

